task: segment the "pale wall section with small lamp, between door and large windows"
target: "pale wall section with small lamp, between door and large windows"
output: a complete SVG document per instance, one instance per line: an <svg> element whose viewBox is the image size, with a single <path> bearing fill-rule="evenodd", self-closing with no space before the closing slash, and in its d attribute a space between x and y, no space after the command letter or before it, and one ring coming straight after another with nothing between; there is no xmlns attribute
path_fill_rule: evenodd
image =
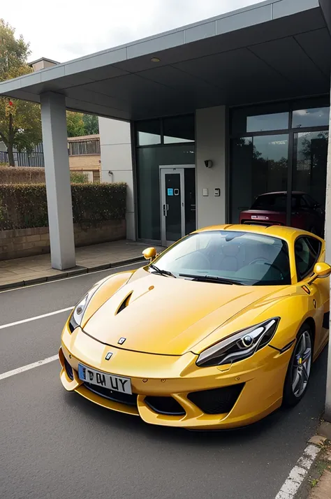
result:
<svg viewBox="0 0 331 499"><path fill-rule="evenodd" d="M214 166L205 167L211 159ZM226 108L196 110L196 192L198 229L226 223ZM208 196L203 196L208 189ZM221 189L221 196L214 196Z"/></svg>

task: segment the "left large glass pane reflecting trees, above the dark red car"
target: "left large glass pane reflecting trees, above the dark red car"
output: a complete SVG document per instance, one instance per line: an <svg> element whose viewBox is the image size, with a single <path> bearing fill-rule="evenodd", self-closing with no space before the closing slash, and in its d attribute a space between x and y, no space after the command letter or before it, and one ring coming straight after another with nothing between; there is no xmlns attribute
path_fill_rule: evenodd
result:
<svg viewBox="0 0 331 499"><path fill-rule="evenodd" d="M288 134L233 140L231 173L231 222L237 223L256 196L286 191Z"/></svg>

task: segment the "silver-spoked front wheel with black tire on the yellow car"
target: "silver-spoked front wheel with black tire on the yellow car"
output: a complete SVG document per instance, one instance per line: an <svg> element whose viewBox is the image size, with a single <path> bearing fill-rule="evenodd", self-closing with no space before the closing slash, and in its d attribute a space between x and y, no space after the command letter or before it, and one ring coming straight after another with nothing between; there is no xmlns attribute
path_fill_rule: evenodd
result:
<svg viewBox="0 0 331 499"><path fill-rule="evenodd" d="M302 324L286 373L283 405L293 407L307 391L313 361L313 336L309 324Z"/></svg>

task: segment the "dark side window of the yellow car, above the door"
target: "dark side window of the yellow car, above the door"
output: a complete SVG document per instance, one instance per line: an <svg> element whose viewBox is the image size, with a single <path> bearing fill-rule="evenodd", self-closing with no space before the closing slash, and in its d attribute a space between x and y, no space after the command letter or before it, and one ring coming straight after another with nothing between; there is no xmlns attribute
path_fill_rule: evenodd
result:
<svg viewBox="0 0 331 499"><path fill-rule="evenodd" d="M302 280L313 270L321 252L321 243L315 238L302 237L295 241L294 251L297 278Z"/></svg>

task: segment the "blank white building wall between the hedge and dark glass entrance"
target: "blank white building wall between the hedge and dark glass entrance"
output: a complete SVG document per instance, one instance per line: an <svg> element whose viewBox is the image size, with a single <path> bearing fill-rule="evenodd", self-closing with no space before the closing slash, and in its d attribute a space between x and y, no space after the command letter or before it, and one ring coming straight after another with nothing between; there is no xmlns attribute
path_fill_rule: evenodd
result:
<svg viewBox="0 0 331 499"><path fill-rule="evenodd" d="M99 117L101 181L126 182L126 237L135 240L135 201L130 124ZM109 174L112 172L112 175Z"/></svg>

